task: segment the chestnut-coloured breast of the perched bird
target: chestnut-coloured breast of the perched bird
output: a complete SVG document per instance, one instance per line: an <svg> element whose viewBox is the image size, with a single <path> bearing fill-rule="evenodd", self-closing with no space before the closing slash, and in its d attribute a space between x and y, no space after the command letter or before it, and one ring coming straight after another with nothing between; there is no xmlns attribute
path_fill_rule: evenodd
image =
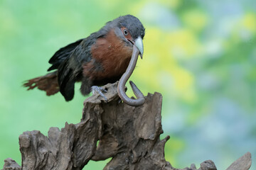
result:
<svg viewBox="0 0 256 170"><path fill-rule="evenodd" d="M91 47L92 60L83 65L83 75L92 80L119 77L126 71L132 47L125 45L114 30L98 38Z"/></svg>

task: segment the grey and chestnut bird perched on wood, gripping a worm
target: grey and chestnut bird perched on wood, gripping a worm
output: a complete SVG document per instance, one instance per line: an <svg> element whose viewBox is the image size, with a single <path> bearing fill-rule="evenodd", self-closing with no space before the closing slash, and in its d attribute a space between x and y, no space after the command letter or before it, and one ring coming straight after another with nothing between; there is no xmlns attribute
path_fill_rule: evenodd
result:
<svg viewBox="0 0 256 170"><path fill-rule="evenodd" d="M28 90L37 87L47 96L60 91L65 101L71 101L75 83L81 82L83 96L91 91L102 96L105 89L101 86L118 81L126 71L134 45L142 57L144 35L145 28L137 17L119 16L87 38L61 47L49 60L49 73L27 80L23 86Z"/></svg>

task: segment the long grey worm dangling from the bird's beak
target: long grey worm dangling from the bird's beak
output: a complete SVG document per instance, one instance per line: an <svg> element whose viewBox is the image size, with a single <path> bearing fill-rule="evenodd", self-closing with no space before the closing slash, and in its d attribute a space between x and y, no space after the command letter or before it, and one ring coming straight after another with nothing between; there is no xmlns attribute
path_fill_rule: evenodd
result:
<svg viewBox="0 0 256 170"><path fill-rule="evenodd" d="M118 86L117 86L117 92L118 92L119 97L122 99L122 101L124 101L124 103L127 103L130 106L140 106L140 105L144 104L144 102L145 102L144 95L132 81L129 81L129 84L131 85L132 91L134 92L137 99L129 98L124 90L125 84L126 84L127 80L129 79L129 77L132 75L132 72L134 71L134 68L136 66L139 52L140 51L137 48L137 46L134 45L131 61L129 62L127 70L122 75L121 79L119 80Z"/></svg>

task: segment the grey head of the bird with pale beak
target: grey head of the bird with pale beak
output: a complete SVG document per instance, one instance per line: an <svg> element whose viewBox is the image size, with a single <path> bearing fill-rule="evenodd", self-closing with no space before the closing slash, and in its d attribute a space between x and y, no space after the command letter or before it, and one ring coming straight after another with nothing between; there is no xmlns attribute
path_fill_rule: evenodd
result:
<svg viewBox="0 0 256 170"><path fill-rule="evenodd" d="M142 40L145 35L145 28L138 18L132 15L120 16L107 23L106 26L114 28L115 34L131 49L135 45L139 49L142 58L144 52Z"/></svg>

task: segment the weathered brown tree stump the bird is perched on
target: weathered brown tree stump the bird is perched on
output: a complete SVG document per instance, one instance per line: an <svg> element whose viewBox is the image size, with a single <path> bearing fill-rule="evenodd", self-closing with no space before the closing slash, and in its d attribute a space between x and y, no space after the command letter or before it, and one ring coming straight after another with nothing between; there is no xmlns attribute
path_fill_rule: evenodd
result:
<svg viewBox="0 0 256 170"><path fill-rule="evenodd" d="M77 170L90 160L110 157L112 160L105 170L178 170L164 159L164 145L169 136L160 140L161 94L148 94L144 105L134 107L120 101L117 83L104 88L108 102L98 94L87 98L80 123L65 123L61 130L50 128L48 137L37 130L23 132L19 136L22 168L13 159L6 159L4 170ZM197 170L194 164L185 169ZM216 167L208 160L199 169Z"/></svg>

